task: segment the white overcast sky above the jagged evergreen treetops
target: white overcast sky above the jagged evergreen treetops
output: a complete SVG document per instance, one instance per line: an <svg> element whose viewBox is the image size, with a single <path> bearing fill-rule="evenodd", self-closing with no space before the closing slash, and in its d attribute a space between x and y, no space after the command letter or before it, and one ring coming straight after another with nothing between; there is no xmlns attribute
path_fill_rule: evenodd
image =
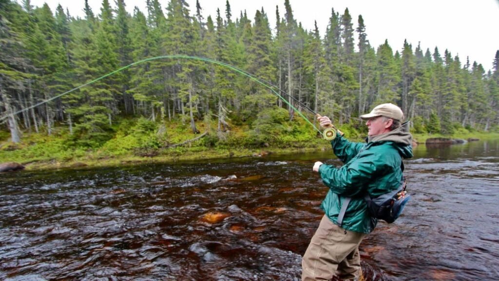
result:
<svg viewBox="0 0 499 281"><path fill-rule="evenodd" d="M21 2L21 0L18 0ZM83 17L83 0L31 0L33 6L46 2L52 12L60 3L69 9L72 16ZM109 0L114 5L114 0ZM187 0L191 14L196 11L196 0ZM225 17L226 0L199 0L205 19L212 15L215 19L217 8ZM441 55L448 49L452 56L459 55L461 63L477 61L487 70L492 69L492 61L499 49L499 0L289 0L295 19L303 27L313 29L314 20L321 36L324 35L331 8L340 14L348 7L354 28L361 14L366 25L367 39L377 48L385 39L394 50L402 50L404 39L413 45L413 51L421 42L423 51L435 46ZM102 0L88 0L94 14L100 13ZM168 0L160 0L165 8ZM247 11L253 21L254 13L263 7L268 15L270 27L275 27L275 7L279 6L280 16L284 16L284 0L229 0L233 20L240 11ZM132 13L134 6L147 14L146 0L125 0L127 10Z"/></svg>

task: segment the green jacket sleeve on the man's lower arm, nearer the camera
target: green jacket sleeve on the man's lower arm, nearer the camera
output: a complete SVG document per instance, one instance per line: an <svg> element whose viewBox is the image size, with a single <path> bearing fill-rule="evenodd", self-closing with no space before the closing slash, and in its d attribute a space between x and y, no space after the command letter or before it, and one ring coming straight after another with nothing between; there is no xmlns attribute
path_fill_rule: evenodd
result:
<svg viewBox="0 0 499 281"><path fill-rule="evenodd" d="M376 180L379 174L387 170L390 170L390 167L381 153L365 150L357 159L340 168L320 165L319 174L333 193L355 196L365 190L370 181Z"/></svg>

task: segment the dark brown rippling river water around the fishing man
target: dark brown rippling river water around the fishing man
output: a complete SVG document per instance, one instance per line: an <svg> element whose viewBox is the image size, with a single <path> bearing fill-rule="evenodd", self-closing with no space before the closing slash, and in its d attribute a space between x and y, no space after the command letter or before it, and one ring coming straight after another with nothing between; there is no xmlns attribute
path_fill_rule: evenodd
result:
<svg viewBox="0 0 499 281"><path fill-rule="evenodd" d="M1 280L298 280L331 151L0 174ZM367 280L499 280L499 141L415 148Z"/></svg>

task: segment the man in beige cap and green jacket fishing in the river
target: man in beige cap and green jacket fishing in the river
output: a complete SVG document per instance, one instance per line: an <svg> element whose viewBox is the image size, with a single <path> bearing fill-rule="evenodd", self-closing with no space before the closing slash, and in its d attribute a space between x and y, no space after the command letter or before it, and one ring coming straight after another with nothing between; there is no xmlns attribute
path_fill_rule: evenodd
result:
<svg viewBox="0 0 499 281"><path fill-rule="evenodd" d="M365 115L367 143L350 142L338 131L331 140L334 154L344 163L336 168L315 162L313 170L329 187L321 208L325 214L302 259L302 281L362 279L359 244L376 226L367 210L364 195L372 197L396 189L402 178L402 158L412 157L409 122L401 124L402 110L395 104L380 104ZM317 118L322 127L331 124L327 116ZM340 210L346 197L346 211Z"/></svg>

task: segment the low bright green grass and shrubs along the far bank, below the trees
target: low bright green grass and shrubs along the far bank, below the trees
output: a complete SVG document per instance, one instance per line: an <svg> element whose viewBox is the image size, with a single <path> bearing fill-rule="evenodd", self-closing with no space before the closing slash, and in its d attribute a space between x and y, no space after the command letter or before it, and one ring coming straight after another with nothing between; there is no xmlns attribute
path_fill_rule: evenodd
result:
<svg viewBox="0 0 499 281"><path fill-rule="evenodd" d="M147 119L123 120L117 124L109 139L98 147L81 147L74 143L74 137L66 128L58 127L52 135L46 132L25 133L21 143L8 140L8 132L0 131L0 163L14 161L24 164L26 169L71 167L76 165L109 166L136 162L171 162L179 160L203 160L214 158L257 156L265 153L296 153L297 151L318 151L330 149L330 144L316 136L303 120L294 120L270 129L262 137L247 125L233 126L226 132L226 138L219 140L214 121L199 121L201 131L211 132L207 136L184 146L170 147L193 139L188 124L165 122L160 125ZM363 141L365 132L354 127L340 127L350 140ZM162 133L159 133L162 131ZM470 132L458 129L453 135L413 134L419 143L429 137L497 139L499 133Z"/></svg>

